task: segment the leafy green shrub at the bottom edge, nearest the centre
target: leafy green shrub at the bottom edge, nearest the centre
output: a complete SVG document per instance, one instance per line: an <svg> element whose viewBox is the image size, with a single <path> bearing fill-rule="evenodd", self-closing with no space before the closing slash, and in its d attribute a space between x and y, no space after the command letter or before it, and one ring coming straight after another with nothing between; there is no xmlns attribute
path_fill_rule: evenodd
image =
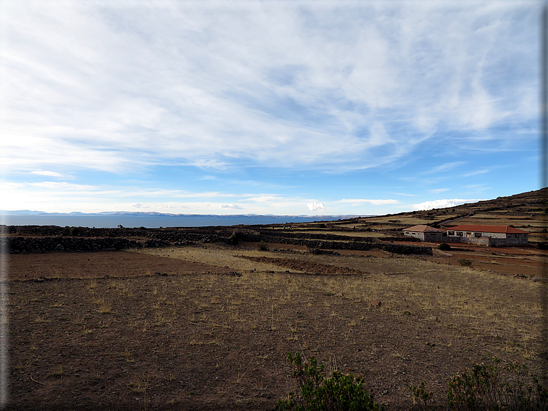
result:
<svg viewBox="0 0 548 411"><path fill-rule="evenodd" d="M331 377L324 375L324 365L318 365L315 357L308 363L302 361L298 352L289 352L287 361L295 368L300 395L290 392L288 398L277 402L277 410L295 411L378 411L379 404L373 395L364 390L363 380L352 373L333 371ZM383 410L384 408L381 408Z"/></svg>

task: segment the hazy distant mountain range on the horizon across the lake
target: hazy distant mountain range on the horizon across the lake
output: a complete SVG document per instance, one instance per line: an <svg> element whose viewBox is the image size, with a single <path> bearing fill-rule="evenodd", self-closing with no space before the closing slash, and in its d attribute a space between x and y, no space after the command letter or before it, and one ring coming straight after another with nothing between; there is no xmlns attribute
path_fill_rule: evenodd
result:
<svg viewBox="0 0 548 411"><path fill-rule="evenodd" d="M279 218L288 219L290 217L297 218L321 218L324 221L337 219L355 219L356 217L373 217L372 215L275 215L275 214L172 214L168 212L155 211L104 211L104 212L45 212L36 210L0 210L1 215L36 215L36 216L119 216L119 217L208 217L208 218L235 218L247 217L253 218Z"/></svg>

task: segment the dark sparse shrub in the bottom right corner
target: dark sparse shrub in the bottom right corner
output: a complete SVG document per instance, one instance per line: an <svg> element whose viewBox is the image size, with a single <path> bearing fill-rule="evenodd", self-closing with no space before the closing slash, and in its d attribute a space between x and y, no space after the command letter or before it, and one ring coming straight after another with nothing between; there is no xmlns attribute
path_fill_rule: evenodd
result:
<svg viewBox="0 0 548 411"><path fill-rule="evenodd" d="M508 363L472 365L471 370L454 374L449 382L447 401L451 410L547 410L548 390L536 377L524 381L527 367Z"/></svg>

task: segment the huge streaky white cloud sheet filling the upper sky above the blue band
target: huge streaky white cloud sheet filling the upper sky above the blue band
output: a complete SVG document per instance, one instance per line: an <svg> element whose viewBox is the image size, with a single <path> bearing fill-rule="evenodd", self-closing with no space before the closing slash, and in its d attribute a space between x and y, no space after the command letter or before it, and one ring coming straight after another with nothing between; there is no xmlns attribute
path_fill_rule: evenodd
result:
<svg viewBox="0 0 548 411"><path fill-rule="evenodd" d="M6 167L355 170L536 115L535 3L161 4L6 3Z"/></svg>

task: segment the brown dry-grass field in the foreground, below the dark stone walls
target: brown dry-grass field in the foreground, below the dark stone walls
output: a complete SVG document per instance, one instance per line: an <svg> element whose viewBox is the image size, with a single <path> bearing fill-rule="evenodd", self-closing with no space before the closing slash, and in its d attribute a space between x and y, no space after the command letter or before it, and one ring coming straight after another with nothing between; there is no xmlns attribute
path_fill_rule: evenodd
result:
<svg viewBox="0 0 548 411"><path fill-rule="evenodd" d="M493 356L542 374L538 267L270 248L10 255L8 409L273 410L296 351L386 410L420 381L443 407L453 372Z"/></svg>

